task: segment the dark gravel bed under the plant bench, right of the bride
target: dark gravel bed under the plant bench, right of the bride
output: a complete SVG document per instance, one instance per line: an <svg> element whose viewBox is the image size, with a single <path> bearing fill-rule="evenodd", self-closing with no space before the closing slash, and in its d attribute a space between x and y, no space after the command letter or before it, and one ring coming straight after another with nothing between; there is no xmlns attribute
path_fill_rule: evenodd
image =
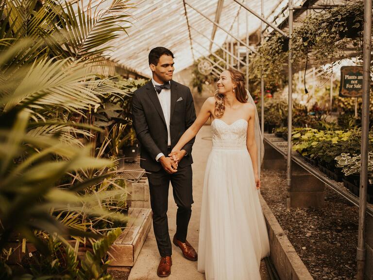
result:
<svg viewBox="0 0 373 280"><path fill-rule="evenodd" d="M286 211L286 173L262 171L261 194L315 280L356 279L358 209L325 188L321 209Z"/></svg>

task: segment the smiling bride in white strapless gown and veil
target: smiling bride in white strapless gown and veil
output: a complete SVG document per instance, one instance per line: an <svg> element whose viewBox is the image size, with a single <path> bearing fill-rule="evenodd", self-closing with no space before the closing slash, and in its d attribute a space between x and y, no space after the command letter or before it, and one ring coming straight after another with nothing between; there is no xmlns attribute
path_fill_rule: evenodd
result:
<svg viewBox="0 0 373 280"><path fill-rule="evenodd" d="M257 111L241 72L223 71L217 85L170 156L177 160L210 118L213 145L203 183L198 271L206 280L257 280L260 260L270 253L257 191L264 151Z"/></svg>

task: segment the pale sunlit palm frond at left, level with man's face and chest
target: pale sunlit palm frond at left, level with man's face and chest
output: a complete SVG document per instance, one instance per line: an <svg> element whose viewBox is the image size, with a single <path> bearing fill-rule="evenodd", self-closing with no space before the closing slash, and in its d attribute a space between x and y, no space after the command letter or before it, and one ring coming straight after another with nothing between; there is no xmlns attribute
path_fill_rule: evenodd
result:
<svg viewBox="0 0 373 280"><path fill-rule="evenodd" d="M4 111L16 105L21 108L54 106L68 111L94 107L100 101L90 90L94 75L87 73L85 64L79 62L45 58L34 63L17 88L0 98L0 103L6 104ZM6 73L2 76L7 77ZM6 87L18 82L7 78L3 78L8 81Z"/></svg>

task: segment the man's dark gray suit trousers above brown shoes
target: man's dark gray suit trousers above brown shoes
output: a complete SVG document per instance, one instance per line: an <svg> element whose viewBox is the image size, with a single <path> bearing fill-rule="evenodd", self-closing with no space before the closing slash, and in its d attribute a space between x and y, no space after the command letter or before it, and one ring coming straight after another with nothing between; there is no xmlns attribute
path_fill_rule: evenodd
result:
<svg viewBox="0 0 373 280"><path fill-rule="evenodd" d="M192 167L178 167L177 172L168 174L163 168L158 172L147 173L150 202L153 210L153 228L161 257L171 256L172 246L167 219L170 182L173 198L177 205L176 238L186 241L188 224L192 213Z"/></svg>

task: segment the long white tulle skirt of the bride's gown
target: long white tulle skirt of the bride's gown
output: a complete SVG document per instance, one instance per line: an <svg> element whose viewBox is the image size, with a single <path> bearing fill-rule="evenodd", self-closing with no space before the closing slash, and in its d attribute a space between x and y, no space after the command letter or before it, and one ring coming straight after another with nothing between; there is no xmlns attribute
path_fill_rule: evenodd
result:
<svg viewBox="0 0 373 280"><path fill-rule="evenodd" d="M206 165L198 271L206 280L258 280L270 254L247 149L212 149Z"/></svg>

